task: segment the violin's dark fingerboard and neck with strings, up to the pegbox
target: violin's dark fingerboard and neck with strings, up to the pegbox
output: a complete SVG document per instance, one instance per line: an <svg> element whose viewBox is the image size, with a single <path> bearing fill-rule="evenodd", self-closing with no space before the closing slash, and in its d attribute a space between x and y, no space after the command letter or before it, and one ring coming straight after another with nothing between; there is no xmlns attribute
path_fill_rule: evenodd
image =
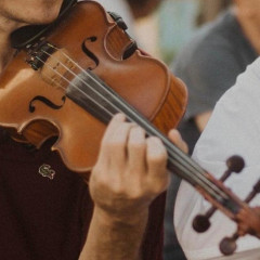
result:
<svg viewBox="0 0 260 260"><path fill-rule="evenodd" d="M94 74L88 70L78 75L66 89L66 95L106 125L115 114L123 113L128 121L138 123L147 135L157 136L162 141L168 153L167 166L172 173L186 180L196 190L204 191L216 205L224 205L230 211L237 211L237 204L217 181L212 181L200 166Z"/></svg>

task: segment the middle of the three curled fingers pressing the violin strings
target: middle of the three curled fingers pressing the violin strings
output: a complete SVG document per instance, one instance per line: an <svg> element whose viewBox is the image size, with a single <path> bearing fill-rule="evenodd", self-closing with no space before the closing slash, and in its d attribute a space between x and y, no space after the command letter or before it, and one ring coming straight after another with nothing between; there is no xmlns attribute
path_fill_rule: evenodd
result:
<svg viewBox="0 0 260 260"><path fill-rule="evenodd" d="M144 172L146 168L145 131L141 127L133 127L128 140L128 165L131 173Z"/></svg>

